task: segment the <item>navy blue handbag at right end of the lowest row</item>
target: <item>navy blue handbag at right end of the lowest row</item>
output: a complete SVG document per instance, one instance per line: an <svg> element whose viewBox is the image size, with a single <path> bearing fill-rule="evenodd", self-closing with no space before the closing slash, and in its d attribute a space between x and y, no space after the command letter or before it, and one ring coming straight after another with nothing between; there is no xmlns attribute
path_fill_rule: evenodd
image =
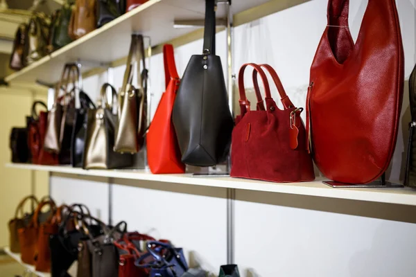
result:
<svg viewBox="0 0 416 277"><path fill-rule="evenodd" d="M188 270L182 248L157 241L149 241L146 248L148 253L136 260L135 265L150 269L150 277L180 277ZM144 264L144 260L149 256L154 260Z"/></svg>

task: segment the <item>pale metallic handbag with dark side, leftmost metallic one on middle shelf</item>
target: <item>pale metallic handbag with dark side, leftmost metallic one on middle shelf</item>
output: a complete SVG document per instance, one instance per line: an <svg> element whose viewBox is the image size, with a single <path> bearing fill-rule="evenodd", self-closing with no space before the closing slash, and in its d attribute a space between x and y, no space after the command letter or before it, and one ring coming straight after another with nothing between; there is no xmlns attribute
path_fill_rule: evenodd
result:
<svg viewBox="0 0 416 277"><path fill-rule="evenodd" d="M44 149L59 154L61 164L71 163L71 134L76 111L75 89L69 90L69 80L76 74L73 72L73 66L75 65L66 64L64 71L62 71L58 88L55 89L55 102L48 114L44 140ZM72 87L75 86L76 84L73 82ZM63 96L60 96L61 88Z"/></svg>

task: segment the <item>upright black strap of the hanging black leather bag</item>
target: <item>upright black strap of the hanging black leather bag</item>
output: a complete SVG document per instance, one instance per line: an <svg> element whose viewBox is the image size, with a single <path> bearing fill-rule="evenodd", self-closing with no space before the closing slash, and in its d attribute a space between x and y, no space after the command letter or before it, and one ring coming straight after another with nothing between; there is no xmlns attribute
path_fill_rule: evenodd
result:
<svg viewBox="0 0 416 277"><path fill-rule="evenodd" d="M205 0L204 48L202 53L215 55L215 0ZM206 53L209 51L209 53Z"/></svg>

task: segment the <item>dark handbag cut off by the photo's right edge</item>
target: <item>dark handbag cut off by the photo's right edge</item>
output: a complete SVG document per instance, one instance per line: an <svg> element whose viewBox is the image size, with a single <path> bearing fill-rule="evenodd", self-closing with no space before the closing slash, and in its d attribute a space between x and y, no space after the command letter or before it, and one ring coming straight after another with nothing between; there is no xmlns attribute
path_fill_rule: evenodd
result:
<svg viewBox="0 0 416 277"><path fill-rule="evenodd" d="M410 115L408 152L404 185L416 188L416 65L409 78Z"/></svg>

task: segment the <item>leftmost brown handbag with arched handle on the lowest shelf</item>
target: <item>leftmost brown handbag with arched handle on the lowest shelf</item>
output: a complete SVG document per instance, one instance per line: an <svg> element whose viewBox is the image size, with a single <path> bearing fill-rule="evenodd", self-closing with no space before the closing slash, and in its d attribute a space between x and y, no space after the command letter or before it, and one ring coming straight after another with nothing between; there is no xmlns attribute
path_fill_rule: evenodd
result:
<svg viewBox="0 0 416 277"><path fill-rule="evenodd" d="M31 201L31 213L24 213L24 204L26 204L26 202L29 200ZM24 228L31 223L33 213L35 212L35 208L38 204L39 202L37 201L35 195L29 195L27 197L24 197L24 199L21 200L19 205L17 205L15 217L8 222L8 229L10 233L9 247L10 251L12 251L13 253L20 253L19 233L17 230Z"/></svg>

